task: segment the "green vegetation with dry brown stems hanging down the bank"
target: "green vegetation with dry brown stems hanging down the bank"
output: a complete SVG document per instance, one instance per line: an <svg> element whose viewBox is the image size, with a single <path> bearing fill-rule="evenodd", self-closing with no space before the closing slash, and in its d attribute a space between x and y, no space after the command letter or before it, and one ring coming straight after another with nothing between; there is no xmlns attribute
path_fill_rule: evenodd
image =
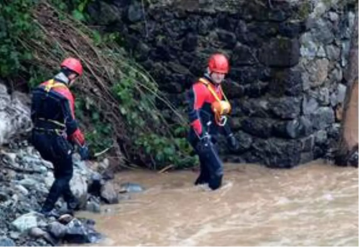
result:
<svg viewBox="0 0 359 247"><path fill-rule="evenodd" d="M91 0L5 0L0 4L0 77L29 87L48 79L66 56L83 62L76 116L93 152L111 148L151 169L193 166L184 138L187 122L157 84L118 45L121 37L88 28ZM164 102L178 121L169 125L156 107ZM116 144L120 144L119 145Z"/></svg>

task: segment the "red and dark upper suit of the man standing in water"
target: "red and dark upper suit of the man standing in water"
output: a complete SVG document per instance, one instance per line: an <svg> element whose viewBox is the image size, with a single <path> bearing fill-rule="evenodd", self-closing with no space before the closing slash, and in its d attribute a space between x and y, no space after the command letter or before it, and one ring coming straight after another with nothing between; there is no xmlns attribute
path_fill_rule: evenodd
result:
<svg viewBox="0 0 359 247"><path fill-rule="evenodd" d="M207 75L204 75L202 79L208 81L208 85L198 80L192 85L187 95L189 102L188 118L190 120L191 128L199 136L201 136L203 132L209 132L211 135L220 132L225 136L228 136L231 134L228 121L224 126L216 124L211 104L217 99L208 89L208 87L211 87L218 98L222 100L224 97L222 87L220 84L214 84ZM211 122L209 127L207 126L208 122Z"/></svg>

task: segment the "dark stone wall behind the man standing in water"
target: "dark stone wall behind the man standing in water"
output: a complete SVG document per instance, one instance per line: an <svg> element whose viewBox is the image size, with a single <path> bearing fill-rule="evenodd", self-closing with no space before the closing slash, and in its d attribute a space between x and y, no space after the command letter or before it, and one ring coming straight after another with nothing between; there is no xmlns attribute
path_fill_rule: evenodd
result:
<svg viewBox="0 0 359 247"><path fill-rule="evenodd" d="M230 57L225 92L241 143L228 161L293 167L330 153L346 85L353 6L344 1L95 1L94 25L127 50L180 109L212 52Z"/></svg>

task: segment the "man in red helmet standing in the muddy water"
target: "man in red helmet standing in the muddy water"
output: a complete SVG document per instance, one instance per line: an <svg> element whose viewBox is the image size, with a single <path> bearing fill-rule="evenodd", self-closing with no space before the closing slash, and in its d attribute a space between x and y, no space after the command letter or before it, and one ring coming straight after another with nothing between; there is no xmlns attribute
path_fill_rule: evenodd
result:
<svg viewBox="0 0 359 247"><path fill-rule="evenodd" d="M188 140L200 159L200 174L195 185L208 183L212 190L222 185L223 163L215 147L218 132L227 138L229 148L238 149L238 142L230 130L227 114L231 110L221 83L229 71L229 62L221 53L213 54L207 71L189 93L188 116L191 123Z"/></svg>

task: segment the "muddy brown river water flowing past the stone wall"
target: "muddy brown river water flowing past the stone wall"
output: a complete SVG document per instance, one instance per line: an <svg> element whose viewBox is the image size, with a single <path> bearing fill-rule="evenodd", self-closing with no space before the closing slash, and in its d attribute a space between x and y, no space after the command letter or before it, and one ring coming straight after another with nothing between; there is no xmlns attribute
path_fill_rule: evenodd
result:
<svg viewBox="0 0 359 247"><path fill-rule="evenodd" d="M122 172L145 192L79 213L116 247L359 246L359 169L317 160L293 169L226 164L217 191L193 186L193 171Z"/></svg>

